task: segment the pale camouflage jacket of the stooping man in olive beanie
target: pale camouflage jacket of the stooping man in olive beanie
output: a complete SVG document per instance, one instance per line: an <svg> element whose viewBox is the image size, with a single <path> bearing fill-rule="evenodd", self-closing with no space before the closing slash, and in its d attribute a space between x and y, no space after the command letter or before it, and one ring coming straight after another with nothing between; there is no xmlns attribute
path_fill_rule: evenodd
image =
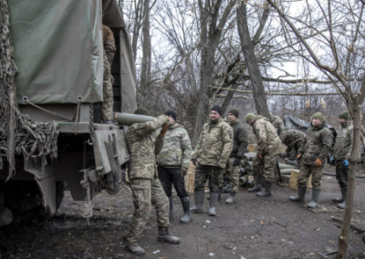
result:
<svg viewBox="0 0 365 259"><path fill-rule="evenodd" d="M259 115L255 118L254 133L257 139L257 153L260 155L277 155L281 153L281 141L270 121Z"/></svg>

